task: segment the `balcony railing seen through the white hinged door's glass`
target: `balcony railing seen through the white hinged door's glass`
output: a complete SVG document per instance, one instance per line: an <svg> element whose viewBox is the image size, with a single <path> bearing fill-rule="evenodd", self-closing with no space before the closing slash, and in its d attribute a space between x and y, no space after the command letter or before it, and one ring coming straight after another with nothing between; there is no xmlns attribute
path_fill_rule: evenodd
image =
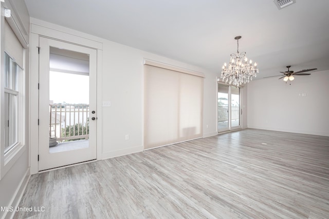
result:
<svg viewBox="0 0 329 219"><path fill-rule="evenodd" d="M49 138L58 142L89 138L89 105L49 104Z"/></svg>

